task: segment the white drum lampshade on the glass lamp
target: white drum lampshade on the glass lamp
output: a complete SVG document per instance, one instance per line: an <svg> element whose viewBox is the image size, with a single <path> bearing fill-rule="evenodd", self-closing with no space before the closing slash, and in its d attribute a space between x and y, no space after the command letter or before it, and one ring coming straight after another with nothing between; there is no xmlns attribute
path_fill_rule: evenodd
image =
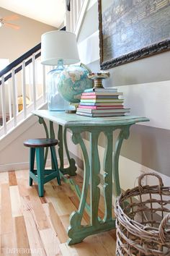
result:
<svg viewBox="0 0 170 256"><path fill-rule="evenodd" d="M63 30L54 30L41 36L41 63L56 65L63 59L63 64L79 62L76 35Z"/></svg>

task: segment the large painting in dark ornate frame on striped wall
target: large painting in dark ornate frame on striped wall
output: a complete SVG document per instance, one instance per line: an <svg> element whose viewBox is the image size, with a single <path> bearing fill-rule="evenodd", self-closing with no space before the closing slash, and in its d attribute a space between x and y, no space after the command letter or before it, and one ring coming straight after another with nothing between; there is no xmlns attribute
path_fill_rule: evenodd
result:
<svg viewBox="0 0 170 256"><path fill-rule="evenodd" d="M104 1L98 0L101 69L170 49L169 0L115 0L103 10Z"/></svg>

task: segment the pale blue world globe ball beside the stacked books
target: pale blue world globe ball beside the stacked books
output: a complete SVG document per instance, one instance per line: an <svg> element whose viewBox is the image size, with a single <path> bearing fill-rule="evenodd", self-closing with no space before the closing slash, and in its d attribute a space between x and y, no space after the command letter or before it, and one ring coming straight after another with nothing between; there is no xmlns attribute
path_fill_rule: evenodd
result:
<svg viewBox="0 0 170 256"><path fill-rule="evenodd" d="M63 69L58 79L58 92L70 103L79 103L81 93L92 88L92 80L87 76L89 70L83 65L71 65Z"/></svg>

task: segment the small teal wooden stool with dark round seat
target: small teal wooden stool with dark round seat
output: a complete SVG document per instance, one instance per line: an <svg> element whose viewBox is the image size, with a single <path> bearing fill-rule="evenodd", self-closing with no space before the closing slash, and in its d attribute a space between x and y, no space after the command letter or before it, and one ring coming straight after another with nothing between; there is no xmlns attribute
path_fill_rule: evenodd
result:
<svg viewBox="0 0 170 256"><path fill-rule="evenodd" d="M55 153L55 145L58 145L58 140L52 139L32 139L24 141L24 146L30 148L30 186L32 180L38 184L38 194L40 197L44 195L44 184L50 182L51 179L57 178L58 184L61 185L61 179L58 169L58 161ZM50 148L52 169L45 169L45 148ZM35 154L37 162L37 170L34 169Z"/></svg>

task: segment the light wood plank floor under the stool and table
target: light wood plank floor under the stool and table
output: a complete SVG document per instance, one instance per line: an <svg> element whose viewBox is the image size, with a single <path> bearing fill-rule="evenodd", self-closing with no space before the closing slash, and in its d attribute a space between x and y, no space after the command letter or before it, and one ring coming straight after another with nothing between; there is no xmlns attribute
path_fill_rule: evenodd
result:
<svg viewBox="0 0 170 256"><path fill-rule="evenodd" d="M82 185L80 176L76 177ZM39 197L37 185L28 185L28 171L0 173L0 244L4 255L115 256L115 231L107 231L68 246L69 216L79 200L68 184L55 180L45 184ZM100 202L99 216L104 212ZM85 213L83 223L88 223Z"/></svg>

